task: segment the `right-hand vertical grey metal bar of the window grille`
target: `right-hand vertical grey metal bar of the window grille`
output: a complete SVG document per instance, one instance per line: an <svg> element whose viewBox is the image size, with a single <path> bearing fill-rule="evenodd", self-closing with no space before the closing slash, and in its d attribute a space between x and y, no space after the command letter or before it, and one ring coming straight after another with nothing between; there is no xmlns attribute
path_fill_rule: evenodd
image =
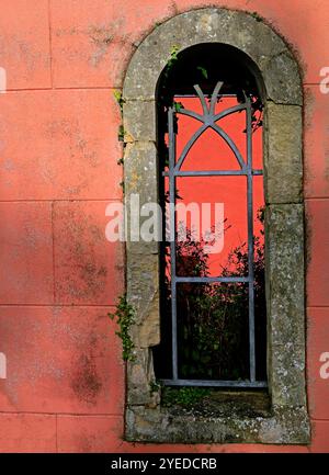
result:
<svg viewBox="0 0 329 475"><path fill-rule="evenodd" d="M253 189L251 102L247 99L247 194L248 194L248 274L249 274L249 362L250 381L256 381L254 352L254 275L253 275Z"/></svg>

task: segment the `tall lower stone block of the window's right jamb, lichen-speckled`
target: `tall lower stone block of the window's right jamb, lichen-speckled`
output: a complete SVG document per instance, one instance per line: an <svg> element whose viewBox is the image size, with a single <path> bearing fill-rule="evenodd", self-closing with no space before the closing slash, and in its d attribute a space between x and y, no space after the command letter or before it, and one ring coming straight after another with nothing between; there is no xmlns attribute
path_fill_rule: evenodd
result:
<svg viewBox="0 0 329 475"><path fill-rule="evenodd" d="M304 207L265 212L269 385L272 403L305 406Z"/></svg>

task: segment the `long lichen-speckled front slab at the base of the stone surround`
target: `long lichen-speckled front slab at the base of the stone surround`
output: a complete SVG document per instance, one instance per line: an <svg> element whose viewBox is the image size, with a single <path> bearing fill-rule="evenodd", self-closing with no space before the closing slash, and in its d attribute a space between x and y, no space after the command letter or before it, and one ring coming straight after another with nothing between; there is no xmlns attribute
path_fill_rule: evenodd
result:
<svg viewBox="0 0 329 475"><path fill-rule="evenodd" d="M304 408L277 406L268 417L202 418L175 415L169 409L128 407L127 440L170 443L308 443L309 426Z"/></svg>

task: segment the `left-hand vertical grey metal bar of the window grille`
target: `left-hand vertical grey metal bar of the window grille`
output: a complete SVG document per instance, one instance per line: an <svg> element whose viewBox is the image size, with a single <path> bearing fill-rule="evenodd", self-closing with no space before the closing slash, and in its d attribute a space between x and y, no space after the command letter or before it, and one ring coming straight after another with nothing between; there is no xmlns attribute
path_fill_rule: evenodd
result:
<svg viewBox="0 0 329 475"><path fill-rule="evenodd" d="M169 128L169 203L170 203L170 276L171 276L171 341L172 341L172 378L178 380L177 344L177 275L175 275L175 134L173 128L173 109L168 110Z"/></svg>

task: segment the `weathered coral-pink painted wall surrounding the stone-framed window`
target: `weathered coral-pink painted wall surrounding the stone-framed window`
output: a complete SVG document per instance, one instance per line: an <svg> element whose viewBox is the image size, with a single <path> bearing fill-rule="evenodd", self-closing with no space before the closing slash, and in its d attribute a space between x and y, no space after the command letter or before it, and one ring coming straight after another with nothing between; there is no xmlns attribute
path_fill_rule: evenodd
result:
<svg viewBox="0 0 329 475"><path fill-rule="evenodd" d="M106 317L123 291L123 248L105 207L122 199L121 88L136 44L202 0L1 0L0 451L327 451L329 380L329 66L327 0L226 0L256 11L304 70L308 228L309 446L133 445L123 442L124 367ZM4 89L3 84L0 90Z"/></svg>

